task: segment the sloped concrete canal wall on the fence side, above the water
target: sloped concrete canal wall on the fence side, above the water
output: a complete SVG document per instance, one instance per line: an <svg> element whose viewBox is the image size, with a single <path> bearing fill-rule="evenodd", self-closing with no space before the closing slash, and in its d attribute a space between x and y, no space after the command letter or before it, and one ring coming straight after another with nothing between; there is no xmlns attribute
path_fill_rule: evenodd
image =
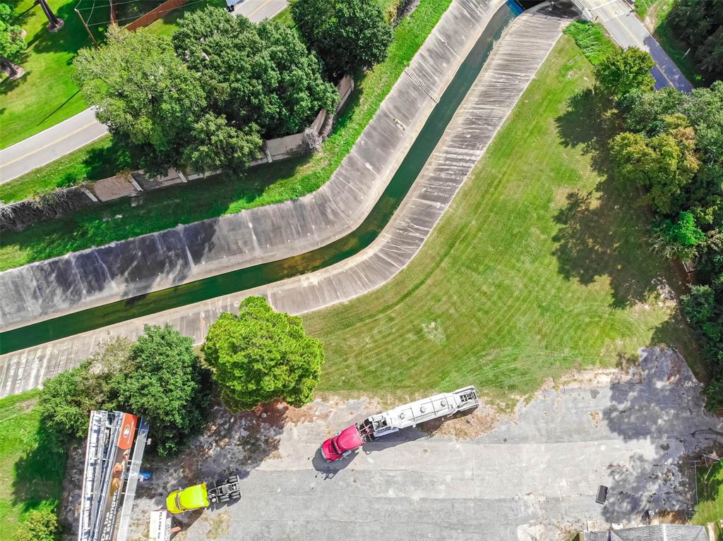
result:
<svg viewBox="0 0 723 541"><path fill-rule="evenodd" d="M355 230L502 0L454 0L330 181L294 201L0 273L0 330L302 254ZM419 82L422 85L419 85ZM422 90L422 88L426 90Z"/></svg>

